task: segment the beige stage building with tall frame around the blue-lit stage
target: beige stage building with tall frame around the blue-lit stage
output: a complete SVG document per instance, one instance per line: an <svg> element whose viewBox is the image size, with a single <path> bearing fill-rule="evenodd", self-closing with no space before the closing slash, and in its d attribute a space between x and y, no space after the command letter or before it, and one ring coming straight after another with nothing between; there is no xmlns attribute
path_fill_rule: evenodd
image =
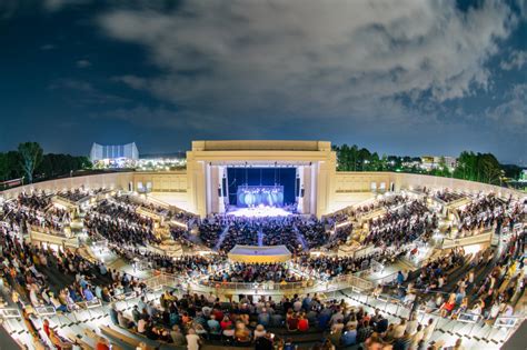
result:
<svg viewBox="0 0 527 350"><path fill-rule="evenodd" d="M187 196L202 217L232 206L275 203L321 216L335 169L336 154L326 141L193 141L187 152Z"/></svg>

